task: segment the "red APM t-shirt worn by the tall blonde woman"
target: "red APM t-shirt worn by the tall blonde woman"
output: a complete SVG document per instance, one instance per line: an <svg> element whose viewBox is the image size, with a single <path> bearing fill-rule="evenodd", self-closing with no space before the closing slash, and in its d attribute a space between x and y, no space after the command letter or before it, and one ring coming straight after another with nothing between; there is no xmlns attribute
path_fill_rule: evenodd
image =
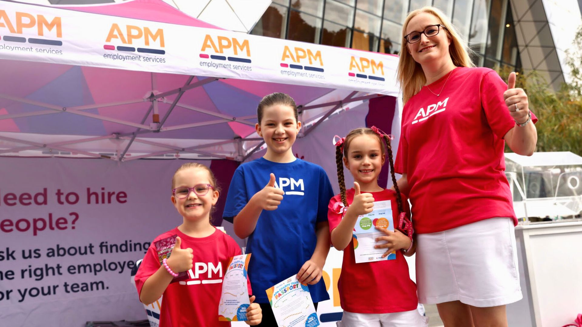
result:
<svg viewBox="0 0 582 327"><path fill-rule="evenodd" d="M503 155L503 137L516 126L507 87L494 70L457 67L404 105L395 172L408 176L417 233L494 217L517 224Z"/></svg>

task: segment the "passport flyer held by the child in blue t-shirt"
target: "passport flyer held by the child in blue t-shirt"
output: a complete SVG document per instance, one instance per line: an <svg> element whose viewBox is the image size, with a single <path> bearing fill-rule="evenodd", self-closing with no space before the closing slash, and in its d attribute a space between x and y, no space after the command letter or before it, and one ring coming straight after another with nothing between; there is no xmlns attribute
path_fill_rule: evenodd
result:
<svg viewBox="0 0 582 327"><path fill-rule="evenodd" d="M279 327L320 325L309 288L296 275L268 289L267 297Z"/></svg>

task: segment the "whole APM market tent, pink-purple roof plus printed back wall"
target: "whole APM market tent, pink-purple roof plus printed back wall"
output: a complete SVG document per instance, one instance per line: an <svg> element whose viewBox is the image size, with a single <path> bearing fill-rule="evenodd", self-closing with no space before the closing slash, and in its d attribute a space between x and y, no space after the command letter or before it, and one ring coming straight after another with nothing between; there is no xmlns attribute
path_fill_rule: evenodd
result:
<svg viewBox="0 0 582 327"><path fill-rule="evenodd" d="M16 275L30 267L35 276L46 271L34 280L5 280L9 275L0 269L0 317L7 323L145 318L121 266L143 257L147 242L176 226L168 180L179 162L135 159L213 159L203 162L226 186L236 161L260 155L254 125L266 94L282 91L295 99L304 128L293 150L322 165L335 188L333 134L376 125L395 134L396 151L396 56L221 30L160 0L0 4L0 234L15 244L11 249L22 250L9 268ZM130 162L118 165L122 161ZM387 174L382 170L381 184ZM349 179L346 173L347 185ZM45 201L29 205L29 193ZM22 201L14 202L15 194L24 194L17 197ZM143 249L122 251L136 243ZM103 251L107 244L120 244L119 252ZM95 254L47 254L88 245ZM42 253L25 260L29 248ZM105 271L69 270L100 262ZM72 283L77 288L67 289ZM39 290L41 296L34 293ZM333 298L335 291L329 292ZM337 311L333 300L318 312Z"/></svg>

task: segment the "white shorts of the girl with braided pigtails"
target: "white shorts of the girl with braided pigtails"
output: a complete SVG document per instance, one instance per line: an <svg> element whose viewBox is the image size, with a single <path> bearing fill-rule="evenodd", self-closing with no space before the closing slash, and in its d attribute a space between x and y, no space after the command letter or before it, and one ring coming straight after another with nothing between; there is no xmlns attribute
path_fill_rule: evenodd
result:
<svg viewBox="0 0 582 327"><path fill-rule="evenodd" d="M356 314L343 311L338 327L427 327L428 318L418 310L392 312L390 314Z"/></svg>

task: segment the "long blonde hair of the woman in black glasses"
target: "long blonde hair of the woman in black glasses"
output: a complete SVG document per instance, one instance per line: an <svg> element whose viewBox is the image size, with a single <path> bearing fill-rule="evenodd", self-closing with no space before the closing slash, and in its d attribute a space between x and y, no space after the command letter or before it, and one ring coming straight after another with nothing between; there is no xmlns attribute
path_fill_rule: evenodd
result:
<svg viewBox="0 0 582 327"><path fill-rule="evenodd" d="M450 59L452 59L453 64L457 67L475 67L474 63L471 61L470 53L473 51L467 45L467 42L460 37L459 33L450 22L449 18L446 17L440 9L433 6L425 6L423 8L414 10L410 12L404 20L402 26L402 48L400 49L400 58L398 61L398 74L397 79L400 82L400 87L402 87L402 95L404 103L409 101L414 94L417 94L424 84L427 83L427 78L424 76L424 72L419 63L414 61L412 55L408 52L407 42L404 39L404 33L406 33L406 28L411 19L419 13L430 13L431 15L437 17L441 21L442 27L446 35L450 38L451 42L449 45Z"/></svg>

